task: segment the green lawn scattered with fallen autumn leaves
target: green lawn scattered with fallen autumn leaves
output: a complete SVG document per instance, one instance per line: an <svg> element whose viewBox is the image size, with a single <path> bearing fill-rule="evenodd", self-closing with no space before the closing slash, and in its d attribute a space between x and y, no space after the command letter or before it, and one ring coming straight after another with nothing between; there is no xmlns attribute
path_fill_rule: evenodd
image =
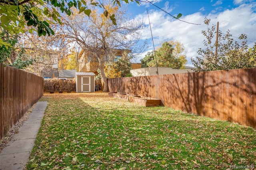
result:
<svg viewBox="0 0 256 170"><path fill-rule="evenodd" d="M108 93L49 94L27 169L224 169L256 165L256 129Z"/></svg>

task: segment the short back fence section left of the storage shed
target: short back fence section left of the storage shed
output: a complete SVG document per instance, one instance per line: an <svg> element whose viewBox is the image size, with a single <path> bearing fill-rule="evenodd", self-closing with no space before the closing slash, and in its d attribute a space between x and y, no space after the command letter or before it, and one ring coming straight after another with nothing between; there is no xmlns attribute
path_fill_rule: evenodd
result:
<svg viewBox="0 0 256 170"><path fill-rule="evenodd" d="M48 91L76 91L76 81L62 79L45 79L44 92Z"/></svg>

